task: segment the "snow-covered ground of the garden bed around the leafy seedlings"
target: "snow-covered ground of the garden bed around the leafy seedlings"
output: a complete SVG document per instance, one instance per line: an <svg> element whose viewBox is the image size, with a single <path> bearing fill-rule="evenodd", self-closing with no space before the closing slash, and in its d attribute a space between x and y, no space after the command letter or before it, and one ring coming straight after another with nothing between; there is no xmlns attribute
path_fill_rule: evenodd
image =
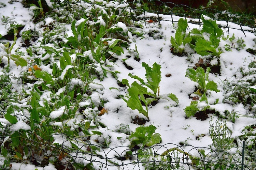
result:
<svg viewBox="0 0 256 170"><path fill-rule="evenodd" d="M19 2L20 1L20 2ZM6 6L4 6L3 4ZM50 3L50 2L48 2ZM111 6L111 4L109 5ZM44 28L47 25L51 25L54 22L57 22L56 20L52 19L51 17L47 17L44 19L44 21L40 23L33 23L32 22L32 10L28 8L24 8L22 6L21 0L15 1L12 4L8 2L8 0L2 0L0 4L0 34L2 36L6 35L8 31L10 30L10 22L23 25L24 28L19 32L19 35L22 35L22 32L25 32L27 30L33 30L40 32L40 37L36 41L31 41L32 45L37 46L39 48L42 47L42 43L39 40L42 40L43 38L43 32L45 31ZM143 14L144 15L144 14ZM152 13L146 13L147 17L156 17L155 14ZM160 25L158 22L148 22L148 21L139 21L140 24L143 25L142 28L137 28L138 31L143 32L143 37L137 36L137 35L129 35L129 49L124 49L124 54L115 57L117 60L113 64L108 59L106 60L106 63L109 65L112 65L110 67L111 71L118 71L120 73L117 73L117 79L115 79L110 73L108 73L108 77L105 77L102 81L99 79L95 79L89 86L91 87L92 94L90 95L91 101L97 106L100 105L102 101L105 101L104 103L104 109L107 110L107 113L101 115L99 117L99 121L106 125L106 127L98 127L98 129L91 129L91 130L97 130L102 133L101 137L99 135L94 135L90 137L90 141L93 144L97 144L96 141L99 140L105 140L105 138L109 137L109 148L115 148L117 146L124 146L121 148L117 148L114 151L111 151L111 149L107 148L100 151L97 151L98 155L105 155L105 153L110 152L108 154L108 157L114 157L116 156L116 152L121 155L121 153L127 149L126 146L130 144L129 141L129 135L126 135L124 133L117 133L115 131L116 126L120 124L128 124L130 129L134 131L139 125L131 123L132 119L134 119L137 115L141 118L145 118L144 115L139 114L138 110L132 110L131 108L127 107L126 102L120 98L119 96L127 95L127 87L120 87L118 86L118 81L122 82L123 79L127 79L129 81L129 84L131 84L133 81L136 81L136 79L133 79L128 76L129 73L133 75L137 75L143 80L146 80L145 78L145 69L142 67L142 62L147 63L149 66L152 66L153 63L157 63L161 65L161 82L159 84L159 95L165 95L165 94L175 94L176 97L179 99L179 105L174 107L172 106L172 102L168 102L165 99L160 99L159 102L155 106L149 106L148 107L148 117L150 121L146 122L145 126L148 125L154 125L156 129L156 133L159 133L161 135L162 142L160 145L166 145L167 148L160 148L159 146L156 146L155 148L160 148L157 153L163 153L167 149L171 149L175 147L176 145L181 145L181 143L185 145L192 145L194 147L207 147L209 148L210 145L212 145L212 139L209 135L209 127L210 127L210 120L213 118L213 122L218 120L218 115L225 115L225 111L229 111L232 113L237 113L238 116L235 120L235 122L231 122L230 120L227 120L227 127L231 130L232 135L231 137L236 139L238 142L238 146L236 146L239 149L239 152L241 151L241 140L239 141L239 136L244 134L244 127L248 125L255 125L256 119L255 119L255 111L253 109L249 110L248 105L243 105L242 103L231 103L225 101L225 95L227 95L227 88L225 89L225 86L227 83L236 83L239 82L242 79L247 79L248 76L242 76L240 73L240 68L244 68L244 72L246 71L254 71L256 68L248 68L248 64L250 64L252 61L254 61L255 55L252 55L251 53L247 52L246 49L251 48L255 49L255 34L251 33L249 31L244 31L244 33L240 30L240 26L236 24L229 23L232 28L238 28L238 29L228 29L223 28L222 30L224 32L223 36L229 35L230 37L234 34L236 38L240 37L244 40L244 44L246 47L244 49L241 49L240 51L236 50L235 48L232 48L232 51L226 51L225 50L225 44L230 44L228 40L222 40L219 44L219 47L222 48L223 53L221 53L219 62L221 66L220 75L218 74L209 74L209 81L213 80L217 83L217 89L220 90L220 92L214 92L214 91L208 91L208 102L211 109L215 109L215 112L217 114L209 114L209 118L207 120L197 120L195 117L186 118L186 114L184 109L190 105L190 102L192 101L190 95L194 93L195 87L198 86L198 83L191 81L189 78L187 78L186 70L187 68L194 67L196 63L199 62L200 58L204 58L197 53L193 53L189 57L187 56L175 56L173 53L171 53L171 46L170 43L170 37L175 36L175 25L173 26L172 22L170 21L164 21L164 20L171 20L170 15L159 15L161 17ZM8 21L5 21L4 19L8 18ZM173 16L173 20L177 21L180 17ZM194 20L198 21L197 19L187 18L188 21ZM77 21L77 25L80 24L83 20ZM217 21L218 25L225 26L227 23L226 21ZM63 27L62 27L63 26ZM187 32L191 31L193 28L201 29L199 25L196 24L188 24ZM63 38L64 41L65 37L73 36L73 33L71 31L71 24L68 25L59 25L59 27L65 28L65 33L59 33L61 38ZM130 28L130 26L125 26L124 24L119 24L118 27L123 28L123 30ZM243 28L244 30L250 30L253 31L250 28ZM127 29L128 31L128 29ZM150 36L153 34L154 36ZM65 36L64 36L65 35ZM160 38L161 37L161 38ZM6 42L6 40L1 40L2 43ZM11 44L13 41L9 41ZM12 53L15 53L14 51L17 49L20 52L24 53L24 56L22 56L24 59L27 60L28 65L27 66L16 66L16 64L13 62L13 60L10 61L10 71L9 74L11 77L11 81L13 82L12 91L16 91L18 93L21 93L23 90L25 90L28 94L32 90L34 84L33 83L27 83L23 84L22 81L20 81L17 77L22 76L21 73L28 72L29 68L31 67L29 63L32 63L32 59L30 59L29 54L27 53L28 47L22 46L23 40L22 37L19 37L17 39L16 44L14 45L14 48L12 50ZM41 43L41 44L40 44ZM109 42L111 43L111 42ZM45 46L54 47L53 43L47 43ZM2 47L2 45L1 45ZM134 59L134 54L137 52L131 52L137 49L138 56L140 58L139 61ZM42 50L42 48L41 48ZM16 51L17 52L17 51ZM45 52L45 50L42 50L41 53L38 53L38 58L42 57L42 54ZM128 58L127 56L131 56ZM45 57L45 56L44 56ZM74 57L74 56L73 56ZM1 62L5 64L5 66L0 67L0 75L6 74L3 72L4 68L7 65L7 57L6 53L2 48L0 48L0 58ZM74 57L75 59L75 57ZM34 59L33 59L34 60ZM132 67L132 69L127 69L126 66L123 64L125 60L125 63ZM205 61L205 59L204 59ZM42 71L46 71L49 74L52 74L52 68L50 68L50 65L46 65L42 63L42 65L38 65L39 68L42 69ZM71 68L71 67L69 67ZM66 68L67 70L69 68ZM171 76L166 76L167 74L171 74ZM62 73L64 76L65 73ZM33 77L33 75L31 75ZM250 75L253 77L254 75ZM35 77L33 77L35 78ZM250 79L250 77L249 77ZM254 80L254 77L251 78ZM41 83L41 80L35 81L34 83ZM139 81L137 81L139 82ZM245 82L243 82L245 83ZM252 85L251 85L252 86ZM230 86L229 88L234 88ZM65 88L64 88L65 90ZM62 89L63 91L63 89ZM61 94L61 89L56 92L56 94ZM43 91L43 94L41 95L41 100L45 98L47 101L51 100L50 92L47 90ZM219 99L216 104L213 104L216 99ZM26 100L20 100L18 104L12 104L16 105L20 108L23 108L22 105L28 105ZM40 104L40 99L39 99ZM80 101L79 103L81 106L88 106L90 105L90 102L88 103L88 100L84 99L84 101ZM41 105L43 106L43 104ZM51 123L53 125L58 125L59 127L63 127L63 125L68 124L70 126L74 126L76 128L76 121L73 119L67 119L69 121L64 122L56 122L54 121L56 118L59 118L62 116L62 114L67 114L65 112L65 106L55 108L49 115L49 118L52 119ZM94 109L94 108L93 108ZM88 111L88 108L87 108ZM86 112L86 110L85 110ZM3 111L1 114L4 114L5 111ZM15 111L16 117L20 118L20 114L26 114L30 115L30 113L25 113L22 111ZM212 117L212 118L211 118ZM220 116L219 116L220 117ZM83 118L81 116L78 116L78 121L82 121ZM222 119L225 120L225 119ZM20 119L20 121L23 121ZM9 126L10 122L7 122L4 117L1 117L0 119L1 124L5 126ZM24 123L24 122L23 122ZM27 124L23 124L21 122L16 123L14 125L11 125L11 131L15 132L19 129L24 130L30 130L30 127ZM20 127L17 127L20 125ZM7 137L7 136L6 136ZM1 139L1 142L3 142L4 138ZM54 142L53 143L59 143L63 144L66 147L71 147L71 144L69 142L63 143L63 137L62 135L55 134L54 136ZM172 143L172 144L170 144ZM234 146L235 147L235 146ZM188 152L191 147L186 146L183 148L186 152ZM103 153L104 152L104 153ZM209 152L206 151L206 152ZM71 154L71 153L70 153ZM123 153L124 155L125 153ZM194 154L194 153L191 153ZM100 159L99 159L100 160ZM104 159L102 159L104 160ZM27 161L24 158L24 161ZM36 167L35 165L32 165L32 163L29 163L28 165L25 165L24 161L22 163L11 163L12 168L11 169L49 169L53 170L54 166L52 164L49 164L48 166L42 168L42 167ZM87 164L88 161L80 158L80 163ZM125 163L128 163L133 160L125 160ZM17 161L18 162L18 161ZM110 164L110 163L109 163ZM100 164L95 163L95 168L97 169L97 166L100 166ZM135 167L134 167L135 166ZM124 167L125 169L138 169L136 165L127 165ZM140 167L142 169L142 167ZM103 166L104 169L104 166ZM116 167L108 167L108 169L117 169Z"/></svg>

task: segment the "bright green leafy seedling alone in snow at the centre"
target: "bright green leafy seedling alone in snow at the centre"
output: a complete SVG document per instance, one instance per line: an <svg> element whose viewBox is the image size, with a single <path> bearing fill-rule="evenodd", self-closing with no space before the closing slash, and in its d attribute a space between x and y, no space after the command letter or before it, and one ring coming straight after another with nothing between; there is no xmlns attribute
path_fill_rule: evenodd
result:
<svg viewBox="0 0 256 170"><path fill-rule="evenodd" d="M129 98L128 100L125 99L124 97L122 98L127 103L128 107L130 107L132 110L137 109L139 113L142 113L149 120L148 105L151 104L153 101L158 101L159 98L165 98L168 101L172 100L176 104L178 104L179 100L172 93L168 94L167 96L159 96L159 90L160 90L159 83L161 81L161 71L160 71L161 66L159 64L155 62L153 64L153 67L150 67L148 66L148 64L143 62L142 66L146 70L145 76L146 76L147 82L145 82L142 78L129 73L128 75L131 78L139 80L141 84L134 81L131 84L131 86L129 86L128 80L123 79L122 83L126 84L129 87L127 90ZM151 89L153 93L148 92L148 89L146 87L143 87L143 85ZM149 97L145 97L145 96L149 96ZM140 101L144 103L146 110L143 108L142 103Z"/></svg>

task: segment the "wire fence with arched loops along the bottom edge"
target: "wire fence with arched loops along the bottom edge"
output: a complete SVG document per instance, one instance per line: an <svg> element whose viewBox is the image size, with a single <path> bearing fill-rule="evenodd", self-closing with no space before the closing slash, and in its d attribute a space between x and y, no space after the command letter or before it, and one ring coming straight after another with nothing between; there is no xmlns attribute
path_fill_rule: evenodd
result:
<svg viewBox="0 0 256 170"><path fill-rule="evenodd" d="M86 148L86 151L83 149ZM67 152L67 148L63 151ZM157 144L144 149L130 146L80 145L75 153L69 154L73 162L87 161L98 169L237 169L253 170L255 165L247 162L241 151L214 150L208 147ZM71 151L70 151L71 152ZM74 150L72 150L74 152Z"/></svg>

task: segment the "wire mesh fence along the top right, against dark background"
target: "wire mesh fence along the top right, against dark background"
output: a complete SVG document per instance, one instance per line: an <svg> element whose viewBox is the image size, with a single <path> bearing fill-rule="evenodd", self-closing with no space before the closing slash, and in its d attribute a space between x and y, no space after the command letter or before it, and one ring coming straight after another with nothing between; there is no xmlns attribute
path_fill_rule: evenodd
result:
<svg viewBox="0 0 256 170"><path fill-rule="evenodd" d="M136 17L136 19L144 19L148 20L149 17L146 16L146 13L154 13L157 14L157 21L160 24L161 19L160 15L171 15L171 20L166 20L172 22L177 22L177 20L173 19L173 16L181 16L185 18L194 18L198 19L199 22L195 21L188 21L193 24L201 25L201 16L206 15L208 17L211 17L214 20L217 21L225 21L226 25L219 25L219 27L227 28L229 29L238 29L241 30L243 33L244 31L249 32L256 32L256 20L255 17L249 15L241 15L237 13L231 13L228 11L219 11L217 9L213 8L202 8L202 9L194 9L192 7L189 7L187 5L181 5L181 4L175 4L172 2L162 2L160 0L147 0L146 2L143 1L128 1L128 8L136 11L138 13L143 13L144 16ZM140 6L139 8L136 6ZM135 19L135 18L134 18ZM240 28L234 28L232 27L233 24L237 24L240 26ZM245 34L245 33L244 33Z"/></svg>

